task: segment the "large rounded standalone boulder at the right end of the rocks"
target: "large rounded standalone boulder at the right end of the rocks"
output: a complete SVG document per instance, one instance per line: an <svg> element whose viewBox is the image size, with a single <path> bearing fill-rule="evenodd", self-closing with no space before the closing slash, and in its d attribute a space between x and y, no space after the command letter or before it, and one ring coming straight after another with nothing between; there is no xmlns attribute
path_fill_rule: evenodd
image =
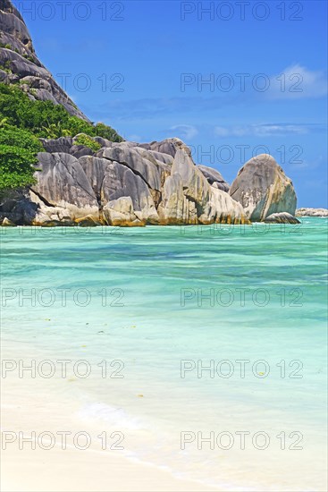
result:
<svg viewBox="0 0 328 492"><path fill-rule="evenodd" d="M251 221L263 221L279 212L295 214L297 199L293 184L268 154L251 158L240 169L229 193L240 202Z"/></svg>

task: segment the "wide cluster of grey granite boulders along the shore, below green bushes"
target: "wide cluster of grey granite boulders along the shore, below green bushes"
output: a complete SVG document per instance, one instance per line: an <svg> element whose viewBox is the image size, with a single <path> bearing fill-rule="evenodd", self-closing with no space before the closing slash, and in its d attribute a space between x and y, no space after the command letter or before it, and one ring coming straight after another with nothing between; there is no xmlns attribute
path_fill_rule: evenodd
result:
<svg viewBox="0 0 328 492"><path fill-rule="evenodd" d="M5 200L0 218L21 225L81 226L248 222L240 203L215 186L224 182L221 174L206 168L217 180L208 181L181 140L174 139L174 157L134 142L111 142L93 152L74 146L69 137L42 141L48 152L38 154L37 184L20 199ZM167 150L171 143L159 148Z"/></svg>

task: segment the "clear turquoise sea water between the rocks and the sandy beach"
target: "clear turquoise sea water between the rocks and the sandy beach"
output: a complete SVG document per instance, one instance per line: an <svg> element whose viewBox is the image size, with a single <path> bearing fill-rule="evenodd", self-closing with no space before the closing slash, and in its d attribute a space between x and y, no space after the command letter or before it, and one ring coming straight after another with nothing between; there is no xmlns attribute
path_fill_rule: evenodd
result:
<svg viewBox="0 0 328 492"><path fill-rule="evenodd" d="M122 431L127 457L217 490L325 490L326 227L3 229L2 337L54 361L45 398Z"/></svg>

